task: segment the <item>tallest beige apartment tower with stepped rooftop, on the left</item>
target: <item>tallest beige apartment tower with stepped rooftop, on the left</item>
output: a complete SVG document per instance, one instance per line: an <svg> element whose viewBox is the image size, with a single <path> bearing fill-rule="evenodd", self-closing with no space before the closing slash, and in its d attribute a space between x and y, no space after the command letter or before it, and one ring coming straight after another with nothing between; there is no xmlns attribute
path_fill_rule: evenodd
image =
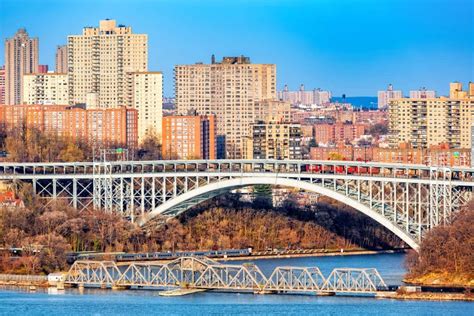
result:
<svg viewBox="0 0 474 316"><path fill-rule="evenodd" d="M126 74L148 69L148 37L102 20L68 36L69 103L96 100L99 108L125 104Z"/></svg>

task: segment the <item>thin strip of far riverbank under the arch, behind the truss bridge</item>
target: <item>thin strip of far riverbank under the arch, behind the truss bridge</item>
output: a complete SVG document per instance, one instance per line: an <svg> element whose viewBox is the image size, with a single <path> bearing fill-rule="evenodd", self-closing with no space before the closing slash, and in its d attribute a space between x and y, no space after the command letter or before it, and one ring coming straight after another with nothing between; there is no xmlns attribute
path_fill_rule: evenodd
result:
<svg viewBox="0 0 474 316"><path fill-rule="evenodd" d="M325 250L324 252L309 252L309 253L269 253L269 252L256 252L251 256L239 256L239 257L220 257L216 258L219 261L241 261L241 260L252 260L252 259L288 259L288 258L304 258L304 257L334 257L334 256L357 256L357 255L378 255L378 254L391 254L391 253L404 253L405 249L397 250Z"/></svg>

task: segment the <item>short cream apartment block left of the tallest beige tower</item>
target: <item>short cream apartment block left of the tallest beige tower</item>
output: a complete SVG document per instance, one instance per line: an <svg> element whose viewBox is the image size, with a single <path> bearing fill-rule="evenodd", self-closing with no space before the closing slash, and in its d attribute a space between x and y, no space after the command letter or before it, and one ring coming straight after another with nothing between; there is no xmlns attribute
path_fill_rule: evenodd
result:
<svg viewBox="0 0 474 316"><path fill-rule="evenodd" d="M67 74L37 73L23 76L23 104L68 104Z"/></svg>

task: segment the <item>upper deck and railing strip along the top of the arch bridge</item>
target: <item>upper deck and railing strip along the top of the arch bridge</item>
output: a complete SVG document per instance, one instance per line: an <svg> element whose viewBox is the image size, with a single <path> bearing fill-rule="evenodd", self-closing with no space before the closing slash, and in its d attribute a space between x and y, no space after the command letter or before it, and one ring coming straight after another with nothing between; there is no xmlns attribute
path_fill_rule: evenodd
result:
<svg viewBox="0 0 474 316"><path fill-rule="evenodd" d="M104 175L167 172L321 173L473 181L474 168L330 160L157 160L77 163L3 163L0 178L12 175Z"/></svg>

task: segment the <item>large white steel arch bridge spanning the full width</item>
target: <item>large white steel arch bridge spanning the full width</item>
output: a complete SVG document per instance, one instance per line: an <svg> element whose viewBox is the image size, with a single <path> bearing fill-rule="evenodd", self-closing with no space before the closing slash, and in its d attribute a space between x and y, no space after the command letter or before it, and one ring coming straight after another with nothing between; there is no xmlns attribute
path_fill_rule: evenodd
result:
<svg viewBox="0 0 474 316"><path fill-rule="evenodd" d="M313 160L3 163L2 180L29 182L43 198L118 212L140 225L247 186L297 188L353 207L417 249L427 231L472 198L474 168Z"/></svg>

